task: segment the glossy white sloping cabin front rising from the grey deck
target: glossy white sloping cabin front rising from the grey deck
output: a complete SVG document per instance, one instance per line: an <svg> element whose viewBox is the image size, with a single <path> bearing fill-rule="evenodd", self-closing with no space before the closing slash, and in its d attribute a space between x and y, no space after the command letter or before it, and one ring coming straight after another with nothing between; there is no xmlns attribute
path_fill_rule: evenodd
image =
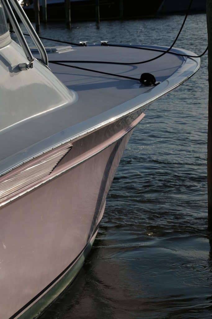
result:
<svg viewBox="0 0 212 319"><path fill-rule="evenodd" d="M20 71L18 63L26 61L23 49L13 41L0 49L0 134L32 118L70 106L78 98L36 60L33 69Z"/></svg>

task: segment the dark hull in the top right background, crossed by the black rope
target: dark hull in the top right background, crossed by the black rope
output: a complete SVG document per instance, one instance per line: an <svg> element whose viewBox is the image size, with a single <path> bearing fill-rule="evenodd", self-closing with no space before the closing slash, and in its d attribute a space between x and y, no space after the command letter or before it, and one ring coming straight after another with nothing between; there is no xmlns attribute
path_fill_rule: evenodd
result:
<svg viewBox="0 0 212 319"><path fill-rule="evenodd" d="M163 0L158 9L158 13L182 13L187 11L189 0L170 1ZM206 0L193 0L191 5L191 12L206 12Z"/></svg>

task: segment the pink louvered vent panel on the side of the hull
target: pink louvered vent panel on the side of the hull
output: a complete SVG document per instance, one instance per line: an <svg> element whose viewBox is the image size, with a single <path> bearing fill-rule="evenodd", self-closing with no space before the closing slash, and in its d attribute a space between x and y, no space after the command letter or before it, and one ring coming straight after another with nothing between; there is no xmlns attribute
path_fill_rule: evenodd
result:
<svg viewBox="0 0 212 319"><path fill-rule="evenodd" d="M70 144L58 147L3 175L0 178L0 203L48 177L71 147Z"/></svg>

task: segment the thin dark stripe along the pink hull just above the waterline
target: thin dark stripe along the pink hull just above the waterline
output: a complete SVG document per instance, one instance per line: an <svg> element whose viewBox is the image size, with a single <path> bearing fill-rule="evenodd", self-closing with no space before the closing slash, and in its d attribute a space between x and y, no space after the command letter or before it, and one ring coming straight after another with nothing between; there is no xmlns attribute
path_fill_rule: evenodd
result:
<svg viewBox="0 0 212 319"><path fill-rule="evenodd" d="M101 222L101 220L100 220ZM96 226L96 228L93 231L92 236L98 231L100 222L98 223L98 225ZM92 238L92 237L91 237ZM24 309L26 309L28 306L31 305L31 303L33 303L36 299L38 299L47 289L49 289L60 277L62 277L65 272L67 270L69 270L69 268L71 268L71 266L73 265L73 263L75 263L75 261L79 258L79 256L84 252L84 250L90 245L90 242L88 242L85 247L80 251L79 255L77 255L76 258L74 258L74 260L54 279L51 281L51 283L49 283L43 290L41 290L34 298L32 298L30 301L28 301L21 309L19 309L14 315L12 315L10 318L8 319L14 319L17 315L19 315L22 311L24 311Z"/></svg>

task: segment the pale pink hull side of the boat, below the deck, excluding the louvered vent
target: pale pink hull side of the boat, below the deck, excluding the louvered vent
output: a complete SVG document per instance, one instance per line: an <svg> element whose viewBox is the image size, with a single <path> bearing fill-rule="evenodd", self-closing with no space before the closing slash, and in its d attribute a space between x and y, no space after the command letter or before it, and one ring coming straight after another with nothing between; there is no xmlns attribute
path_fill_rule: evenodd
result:
<svg viewBox="0 0 212 319"><path fill-rule="evenodd" d="M73 141L53 177L2 203L2 319L35 318L76 276L97 234L121 155L143 116L137 110ZM9 180L14 171L8 174Z"/></svg>

